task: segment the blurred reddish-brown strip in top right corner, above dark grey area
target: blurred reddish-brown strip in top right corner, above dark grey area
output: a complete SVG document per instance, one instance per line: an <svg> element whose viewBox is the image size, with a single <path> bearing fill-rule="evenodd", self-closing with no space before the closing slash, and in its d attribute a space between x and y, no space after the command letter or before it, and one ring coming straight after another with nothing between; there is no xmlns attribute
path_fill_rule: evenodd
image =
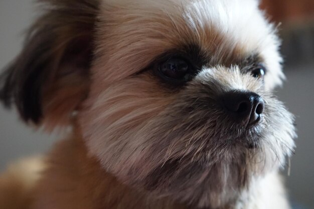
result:
<svg viewBox="0 0 314 209"><path fill-rule="evenodd" d="M314 0L262 0L261 8L275 22L314 19Z"/></svg>

